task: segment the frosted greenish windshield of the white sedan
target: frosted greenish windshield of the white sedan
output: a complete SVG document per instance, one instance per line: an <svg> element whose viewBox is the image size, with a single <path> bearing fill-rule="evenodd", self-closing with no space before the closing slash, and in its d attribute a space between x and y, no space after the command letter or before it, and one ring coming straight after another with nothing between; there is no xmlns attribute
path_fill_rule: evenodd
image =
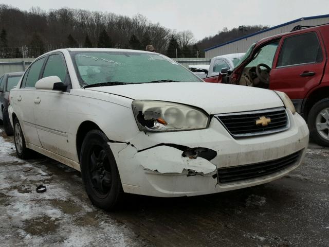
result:
<svg viewBox="0 0 329 247"><path fill-rule="evenodd" d="M80 85L103 82L147 83L158 80L202 82L174 60L144 52L71 52Z"/></svg>

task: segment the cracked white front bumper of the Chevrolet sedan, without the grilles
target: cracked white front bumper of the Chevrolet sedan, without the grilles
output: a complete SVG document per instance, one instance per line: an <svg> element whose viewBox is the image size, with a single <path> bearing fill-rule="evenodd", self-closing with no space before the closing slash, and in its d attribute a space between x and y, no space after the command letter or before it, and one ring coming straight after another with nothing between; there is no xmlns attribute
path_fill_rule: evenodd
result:
<svg viewBox="0 0 329 247"><path fill-rule="evenodd" d="M267 183L296 169L306 153L308 129L301 116L288 115L290 128L271 135L234 139L212 118L207 129L140 132L127 143L108 144L124 192L156 197L205 195ZM277 160L298 151L297 160L279 171L233 183L218 179L220 168Z"/></svg>

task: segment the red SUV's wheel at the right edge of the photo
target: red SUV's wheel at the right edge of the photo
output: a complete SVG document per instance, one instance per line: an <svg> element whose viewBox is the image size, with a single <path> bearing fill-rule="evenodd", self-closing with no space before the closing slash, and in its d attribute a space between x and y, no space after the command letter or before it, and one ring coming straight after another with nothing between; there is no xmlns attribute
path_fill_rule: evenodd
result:
<svg viewBox="0 0 329 247"><path fill-rule="evenodd" d="M308 113L307 124L314 142L329 147L329 98L313 105Z"/></svg>

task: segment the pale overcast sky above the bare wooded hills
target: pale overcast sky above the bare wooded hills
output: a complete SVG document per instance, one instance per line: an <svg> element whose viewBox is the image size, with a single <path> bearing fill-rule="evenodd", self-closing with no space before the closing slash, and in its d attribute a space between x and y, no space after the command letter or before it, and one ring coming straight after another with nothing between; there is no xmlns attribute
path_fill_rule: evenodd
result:
<svg viewBox="0 0 329 247"><path fill-rule="evenodd" d="M134 16L177 31L190 29L196 40L212 36L223 27L275 26L300 17L329 14L328 0L1 0L20 9L69 7Z"/></svg>

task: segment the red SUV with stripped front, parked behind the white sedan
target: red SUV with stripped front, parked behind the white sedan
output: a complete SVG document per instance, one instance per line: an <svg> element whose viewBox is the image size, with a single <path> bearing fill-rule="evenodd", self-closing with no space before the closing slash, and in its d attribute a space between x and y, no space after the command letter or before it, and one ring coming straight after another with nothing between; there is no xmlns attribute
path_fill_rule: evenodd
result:
<svg viewBox="0 0 329 247"><path fill-rule="evenodd" d="M328 52L329 24L296 26L252 44L233 71L224 68L218 78L204 80L285 92L313 140L329 147Z"/></svg>

